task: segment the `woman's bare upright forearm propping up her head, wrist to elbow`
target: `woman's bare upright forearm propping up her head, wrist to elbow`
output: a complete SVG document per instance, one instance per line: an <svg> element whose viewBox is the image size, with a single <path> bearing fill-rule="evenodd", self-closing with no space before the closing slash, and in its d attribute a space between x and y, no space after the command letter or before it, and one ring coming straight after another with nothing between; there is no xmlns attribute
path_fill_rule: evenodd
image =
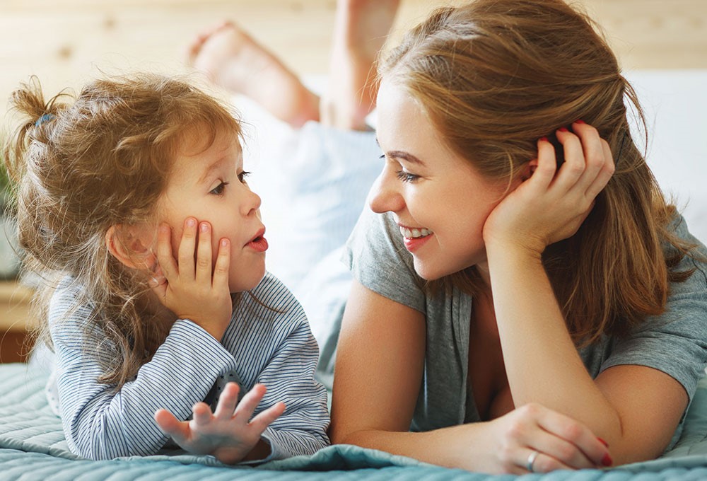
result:
<svg viewBox="0 0 707 481"><path fill-rule="evenodd" d="M580 359L539 255L492 245L487 254L515 405L538 402L587 424L607 441L619 441L619 412Z"/></svg>

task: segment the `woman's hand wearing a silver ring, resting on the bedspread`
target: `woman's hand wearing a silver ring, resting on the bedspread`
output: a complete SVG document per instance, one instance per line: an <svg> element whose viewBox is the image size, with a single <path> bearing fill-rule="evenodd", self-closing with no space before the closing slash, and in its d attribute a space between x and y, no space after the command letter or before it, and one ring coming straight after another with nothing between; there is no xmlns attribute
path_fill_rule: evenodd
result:
<svg viewBox="0 0 707 481"><path fill-rule="evenodd" d="M489 464L476 470L522 475L612 465L606 444L588 427L542 405L519 407L486 428L491 430L483 438L491 441L491 454L484 457Z"/></svg>

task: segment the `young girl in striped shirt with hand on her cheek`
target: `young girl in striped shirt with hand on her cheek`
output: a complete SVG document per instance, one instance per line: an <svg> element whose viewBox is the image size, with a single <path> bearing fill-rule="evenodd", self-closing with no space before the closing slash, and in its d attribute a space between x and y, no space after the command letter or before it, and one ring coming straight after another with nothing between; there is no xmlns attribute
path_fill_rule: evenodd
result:
<svg viewBox="0 0 707 481"><path fill-rule="evenodd" d="M150 75L94 81L65 103L34 83L12 102L20 242L42 279L49 392L71 450L144 456L169 433L238 463L326 446L317 344L265 272L238 121Z"/></svg>

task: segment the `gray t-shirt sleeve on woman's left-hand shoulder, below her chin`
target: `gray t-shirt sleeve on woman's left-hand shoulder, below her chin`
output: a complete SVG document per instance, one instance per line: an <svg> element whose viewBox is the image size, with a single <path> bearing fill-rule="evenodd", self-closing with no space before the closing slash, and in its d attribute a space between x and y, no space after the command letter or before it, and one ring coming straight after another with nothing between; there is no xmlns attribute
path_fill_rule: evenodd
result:
<svg viewBox="0 0 707 481"><path fill-rule="evenodd" d="M390 213L363 210L346 243L343 261L366 288L426 313L424 280L415 272L412 255Z"/></svg>

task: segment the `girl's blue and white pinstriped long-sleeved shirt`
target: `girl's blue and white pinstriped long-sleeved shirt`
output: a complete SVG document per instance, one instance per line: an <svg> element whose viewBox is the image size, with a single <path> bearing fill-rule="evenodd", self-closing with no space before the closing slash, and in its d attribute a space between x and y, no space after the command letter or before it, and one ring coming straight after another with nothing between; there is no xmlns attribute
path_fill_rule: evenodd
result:
<svg viewBox="0 0 707 481"><path fill-rule="evenodd" d="M243 387L267 387L256 414L276 402L286 410L263 434L271 446L267 460L311 454L329 444L325 388L314 379L317 343L290 291L266 274L252 294L243 295L218 342L190 320L177 320L153 359L117 393L98 383L100 358L110 345L87 349L83 342L90 306L75 308L76 286L64 279L49 309L56 353L48 391L59 398L71 451L90 459L146 456L168 441L153 419L164 407L187 419L219 376L234 370ZM280 311L280 312L278 312ZM100 333L98 333L100 335ZM52 389L55 388L55 389Z"/></svg>

